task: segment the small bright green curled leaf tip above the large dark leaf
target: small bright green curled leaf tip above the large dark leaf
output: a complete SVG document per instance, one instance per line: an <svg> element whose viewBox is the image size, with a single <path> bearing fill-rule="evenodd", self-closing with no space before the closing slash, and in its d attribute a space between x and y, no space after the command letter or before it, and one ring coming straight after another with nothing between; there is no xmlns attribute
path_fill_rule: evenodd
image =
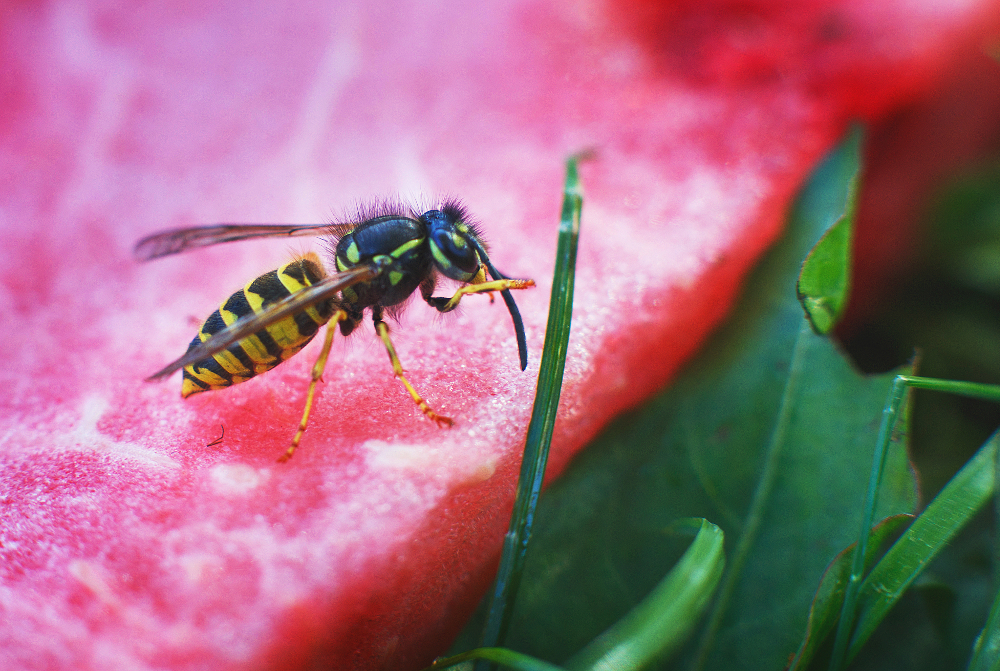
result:
<svg viewBox="0 0 1000 671"><path fill-rule="evenodd" d="M847 140L846 147L859 151L861 139L862 133L857 129ZM812 210L822 216L830 216L839 209L840 215L809 252L796 285L799 301L809 322L820 335L833 330L847 307L851 280L851 243L858 193L857 165L844 162L839 167L846 171L838 177L849 184L847 197L839 199L840 194L827 194L838 200L827 203L825 208Z"/></svg>

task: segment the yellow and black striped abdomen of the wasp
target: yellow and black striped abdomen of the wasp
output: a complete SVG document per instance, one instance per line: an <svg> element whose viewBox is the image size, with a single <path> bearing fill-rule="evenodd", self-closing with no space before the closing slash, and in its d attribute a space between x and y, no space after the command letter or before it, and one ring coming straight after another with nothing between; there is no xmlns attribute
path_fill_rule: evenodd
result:
<svg viewBox="0 0 1000 671"><path fill-rule="evenodd" d="M205 320L191 347L208 340L237 319L260 314L267 306L314 284L324 276L315 254L264 273L230 296ZM333 299L271 324L211 358L184 368L181 396L187 398L211 389L222 389L265 373L305 347L319 327L330 320Z"/></svg>

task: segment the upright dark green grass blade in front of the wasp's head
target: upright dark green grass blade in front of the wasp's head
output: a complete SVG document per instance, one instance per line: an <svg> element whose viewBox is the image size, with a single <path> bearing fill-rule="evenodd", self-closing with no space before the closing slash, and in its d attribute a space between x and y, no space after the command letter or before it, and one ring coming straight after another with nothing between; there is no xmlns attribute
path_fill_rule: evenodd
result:
<svg viewBox="0 0 1000 671"><path fill-rule="evenodd" d="M545 464L549 456L556 411L559 407L573 311L576 250L580 236L580 211L583 206L583 193L577 168L579 160L580 157L574 156L566 163L566 187L559 225L552 297L549 302L549 320L545 329L545 345L542 348L535 404L528 425L524 457L521 461L514 512L511 515L510 527L504 536L500 568L493 584L486 624L480 639L481 647L484 648L502 644L510 625L514 599L524 568L524 555L531 538L535 507L545 478ZM485 665L477 664L476 667L485 668Z"/></svg>

